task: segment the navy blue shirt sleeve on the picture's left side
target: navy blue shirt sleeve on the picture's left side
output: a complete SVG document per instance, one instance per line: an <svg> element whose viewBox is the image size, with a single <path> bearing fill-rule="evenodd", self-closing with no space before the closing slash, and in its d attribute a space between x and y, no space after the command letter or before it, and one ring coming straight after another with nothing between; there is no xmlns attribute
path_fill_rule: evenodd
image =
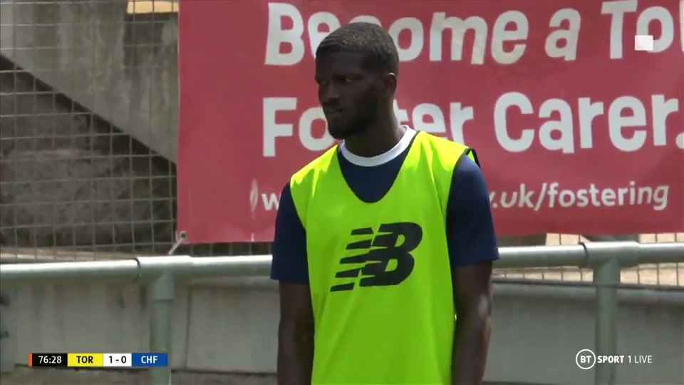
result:
<svg viewBox="0 0 684 385"><path fill-rule="evenodd" d="M299 220L289 183L280 194L271 252L273 254L271 279L294 284L309 284L306 230Z"/></svg>

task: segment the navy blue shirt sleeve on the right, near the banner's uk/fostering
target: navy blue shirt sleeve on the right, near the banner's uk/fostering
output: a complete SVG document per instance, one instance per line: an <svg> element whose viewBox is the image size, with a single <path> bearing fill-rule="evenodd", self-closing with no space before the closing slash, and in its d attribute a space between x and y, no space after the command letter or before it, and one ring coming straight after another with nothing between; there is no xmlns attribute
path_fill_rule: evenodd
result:
<svg viewBox="0 0 684 385"><path fill-rule="evenodd" d="M454 169L446 220L452 268L499 259L489 189L480 166L465 155Z"/></svg>

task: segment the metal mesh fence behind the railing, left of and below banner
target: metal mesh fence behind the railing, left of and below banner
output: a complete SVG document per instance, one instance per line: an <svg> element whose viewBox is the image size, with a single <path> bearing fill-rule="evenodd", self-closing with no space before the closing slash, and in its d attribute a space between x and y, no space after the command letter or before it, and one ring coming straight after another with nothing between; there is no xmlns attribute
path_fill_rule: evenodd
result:
<svg viewBox="0 0 684 385"><path fill-rule="evenodd" d="M175 223L177 4L0 2L2 257L93 260L164 255ZM636 237L636 236L635 236ZM639 235L641 242L684 234ZM548 235L515 245L576 244ZM190 255L269 245L182 246ZM591 279L577 269L497 272ZM684 285L684 265L639 267L628 283Z"/></svg>

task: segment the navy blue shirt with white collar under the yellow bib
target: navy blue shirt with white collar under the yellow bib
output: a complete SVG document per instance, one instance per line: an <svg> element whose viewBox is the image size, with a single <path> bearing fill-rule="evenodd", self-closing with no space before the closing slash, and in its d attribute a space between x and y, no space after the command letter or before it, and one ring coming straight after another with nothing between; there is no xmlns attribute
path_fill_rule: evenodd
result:
<svg viewBox="0 0 684 385"><path fill-rule="evenodd" d="M410 142L413 143L413 139ZM399 173L410 144L406 147L377 165L359 165L358 161L355 164L351 159L359 157L341 150L338 159L349 188L364 202L380 200ZM458 160L452 176L446 230L452 269L499 258L489 190L480 167L467 156ZM306 230L297 215L289 183L280 196L272 252L271 279L309 284Z"/></svg>

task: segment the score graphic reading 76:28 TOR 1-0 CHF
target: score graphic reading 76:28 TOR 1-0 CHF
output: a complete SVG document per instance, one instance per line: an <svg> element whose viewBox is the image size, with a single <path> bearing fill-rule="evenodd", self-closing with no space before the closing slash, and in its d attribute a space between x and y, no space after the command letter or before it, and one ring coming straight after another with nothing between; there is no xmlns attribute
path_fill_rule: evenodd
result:
<svg viewBox="0 0 684 385"><path fill-rule="evenodd" d="M168 366L166 353L31 353L28 366L43 368L153 368Z"/></svg>

